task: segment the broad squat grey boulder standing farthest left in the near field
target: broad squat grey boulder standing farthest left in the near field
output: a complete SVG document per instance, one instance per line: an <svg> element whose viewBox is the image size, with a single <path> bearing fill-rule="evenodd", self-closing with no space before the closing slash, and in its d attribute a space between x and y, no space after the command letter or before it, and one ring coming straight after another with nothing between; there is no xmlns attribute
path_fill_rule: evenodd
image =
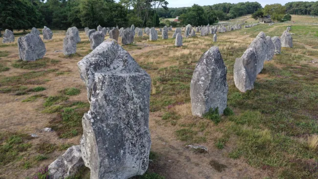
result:
<svg viewBox="0 0 318 179"><path fill-rule="evenodd" d="M34 34L26 34L18 38L19 57L23 61L35 61L43 58L46 49L41 37Z"/></svg>

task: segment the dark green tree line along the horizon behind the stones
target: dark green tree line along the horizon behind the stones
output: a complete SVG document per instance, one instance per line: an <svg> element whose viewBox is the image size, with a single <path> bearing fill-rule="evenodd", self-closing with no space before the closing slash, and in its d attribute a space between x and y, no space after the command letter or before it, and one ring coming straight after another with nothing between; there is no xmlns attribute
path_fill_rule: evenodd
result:
<svg viewBox="0 0 318 179"><path fill-rule="evenodd" d="M168 8L166 0L0 0L0 28L26 30L48 26L51 29L96 28L96 26L152 27L183 24L202 25L247 14L264 12L258 2ZM289 2L280 13L318 15L317 2ZM265 13L268 13L267 11ZM180 17L181 23L165 18ZM281 14L277 16L281 18ZM277 19L276 18L276 19Z"/></svg>

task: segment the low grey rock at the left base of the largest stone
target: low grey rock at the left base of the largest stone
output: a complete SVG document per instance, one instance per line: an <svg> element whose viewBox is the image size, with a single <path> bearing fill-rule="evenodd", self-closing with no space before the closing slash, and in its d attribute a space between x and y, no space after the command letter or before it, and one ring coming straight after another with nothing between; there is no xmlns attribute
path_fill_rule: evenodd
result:
<svg viewBox="0 0 318 179"><path fill-rule="evenodd" d="M78 173L84 165L81 149L79 145L73 145L61 156L53 161L49 166L50 179L64 179Z"/></svg>

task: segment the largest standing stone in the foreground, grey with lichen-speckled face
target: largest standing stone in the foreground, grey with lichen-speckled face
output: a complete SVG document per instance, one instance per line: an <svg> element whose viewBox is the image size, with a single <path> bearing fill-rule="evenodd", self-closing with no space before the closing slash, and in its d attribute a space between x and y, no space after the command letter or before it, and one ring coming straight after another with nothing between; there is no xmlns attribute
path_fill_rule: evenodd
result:
<svg viewBox="0 0 318 179"><path fill-rule="evenodd" d="M128 179L148 168L150 75L114 40L78 62L90 111L82 119L82 157L91 179Z"/></svg>

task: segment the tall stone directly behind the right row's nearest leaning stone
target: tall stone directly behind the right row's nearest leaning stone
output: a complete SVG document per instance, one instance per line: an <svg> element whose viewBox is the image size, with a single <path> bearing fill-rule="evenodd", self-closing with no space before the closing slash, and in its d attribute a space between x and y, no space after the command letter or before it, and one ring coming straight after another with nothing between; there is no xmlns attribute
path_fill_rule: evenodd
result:
<svg viewBox="0 0 318 179"><path fill-rule="evenodd" d="M267 58L267 44L264 32L260 32L256 38L251 42L249 48L253 48L257 57L257 74L260 73L264 67L264 61Z"/></svg>

